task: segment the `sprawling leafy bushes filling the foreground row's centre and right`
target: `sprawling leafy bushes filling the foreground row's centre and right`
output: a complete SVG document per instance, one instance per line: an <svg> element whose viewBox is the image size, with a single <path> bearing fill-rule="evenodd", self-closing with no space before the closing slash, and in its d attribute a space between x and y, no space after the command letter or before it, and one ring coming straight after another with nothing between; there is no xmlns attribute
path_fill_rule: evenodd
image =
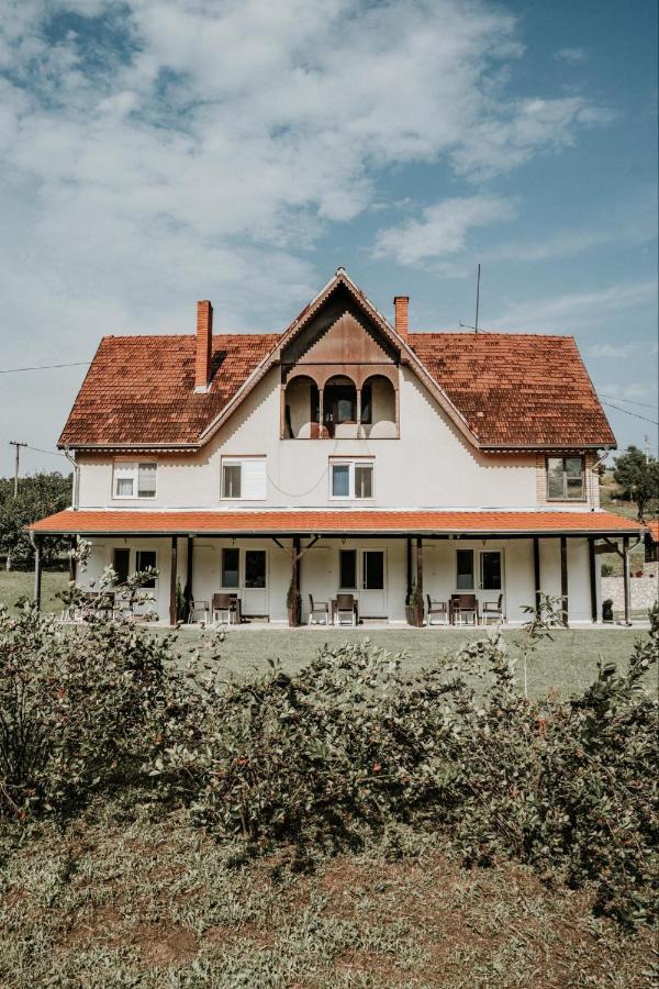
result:
<svg viewBox="0 0 659 989"><path fill-rule="evenodd" d="M413 678L368 642L325 649L294 677L273 668L204 694L152 773L205 825L256 844L405 821L453 835L467 862L513 855L595 880L599 909L634 923L652 910L657 709L639 681L656 649L655 612L627 674L603 668L560 703L520 694L496 631Z"/></svg>

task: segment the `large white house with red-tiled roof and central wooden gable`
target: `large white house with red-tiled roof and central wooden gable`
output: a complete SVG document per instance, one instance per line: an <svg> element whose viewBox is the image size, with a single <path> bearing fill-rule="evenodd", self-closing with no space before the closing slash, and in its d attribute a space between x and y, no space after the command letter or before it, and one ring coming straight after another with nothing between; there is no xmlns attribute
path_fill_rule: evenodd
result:
<svg viewBox="0 0 659 989"><path fill-rule="evenodd" d="M339 269L280 334L110 336L59 446L74 505L32 526L37 547L92 542L80 580L154 565L161 618L237 596L287 621L287 591L353 594L362 620L405 621L414 587L499 601L538 591L566 623L600 614L597 541L638 525L600 509L615 438L569 336L414 333ZM37 586L41 573L37 553Z"/></svg>

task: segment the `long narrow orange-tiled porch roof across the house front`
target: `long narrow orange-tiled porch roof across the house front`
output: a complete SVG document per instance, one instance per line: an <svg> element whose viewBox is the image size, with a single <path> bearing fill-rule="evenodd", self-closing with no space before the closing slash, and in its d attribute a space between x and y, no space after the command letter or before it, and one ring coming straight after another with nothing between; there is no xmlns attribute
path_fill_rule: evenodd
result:
<svg viewBox="0 0 659 989"><path fill-rule="evenodd" d="M36 535L638 535L643 525L604 511L290 509L121 511L68 509L29 526Z"/></svg>

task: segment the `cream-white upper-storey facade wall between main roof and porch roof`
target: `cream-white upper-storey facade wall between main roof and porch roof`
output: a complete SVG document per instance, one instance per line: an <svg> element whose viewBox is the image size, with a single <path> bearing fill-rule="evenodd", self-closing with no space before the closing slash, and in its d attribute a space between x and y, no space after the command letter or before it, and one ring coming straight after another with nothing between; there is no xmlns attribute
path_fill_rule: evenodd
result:
<svg viewBox="0 0 659 989"><path fill-rule="evenodd" d="M337 507L330 498L330 457L375 456L375 497L355 502L358 508L537 505L535 455L476 451L409 369L401 370L400 405L400 440L280 440L280 384L275 369L200 453L153 457L158 460L156 498L112 498L112 458L81 454L79 504L81 509ZM267 457L266 501L221 499L222 456L241 455Z"/></svg>

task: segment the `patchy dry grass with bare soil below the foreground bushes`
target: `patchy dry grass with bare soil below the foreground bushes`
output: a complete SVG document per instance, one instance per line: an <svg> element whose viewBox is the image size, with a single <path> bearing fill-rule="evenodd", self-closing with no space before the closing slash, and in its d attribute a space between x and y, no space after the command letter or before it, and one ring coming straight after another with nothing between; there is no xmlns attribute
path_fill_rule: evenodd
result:
<svg viewBox="0 0 659 989"><path fill-rule="evenodd" d="M0 984L25 987L649 986L652 940L591 913L588 891L504 863L466 870L431 836L304 874L249 862L182 815L93 809L44 825L0 878Z"/></svg>

